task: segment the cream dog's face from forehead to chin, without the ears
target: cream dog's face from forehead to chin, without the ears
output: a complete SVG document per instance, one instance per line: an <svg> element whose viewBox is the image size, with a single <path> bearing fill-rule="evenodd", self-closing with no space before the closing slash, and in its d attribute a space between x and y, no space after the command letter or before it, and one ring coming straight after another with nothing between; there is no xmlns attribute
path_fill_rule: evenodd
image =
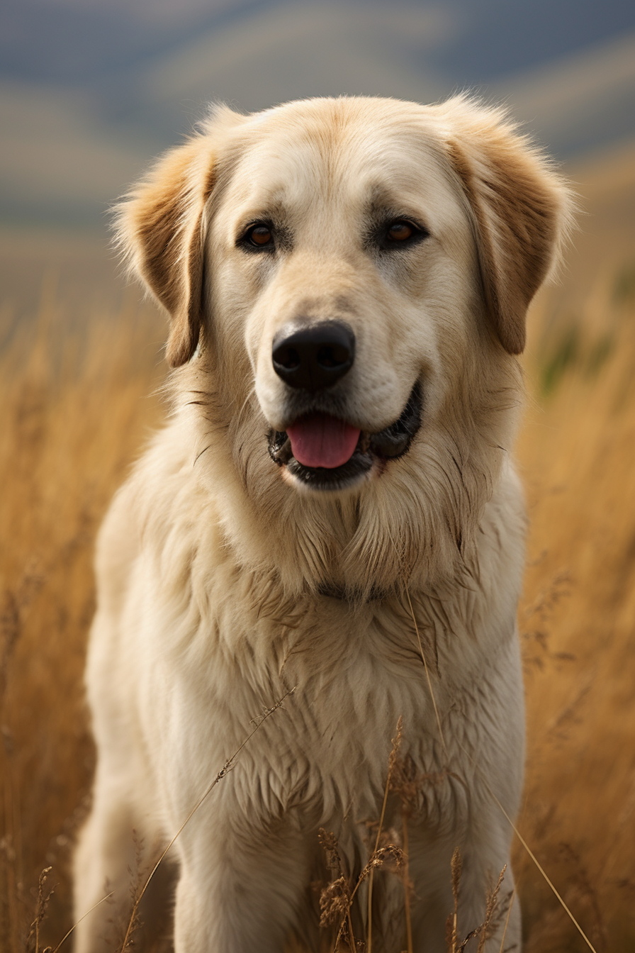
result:
<svg viewBox="0 0 635 953"><path fill-rule="evenodd" d="M206 255L212 323L245 341L271 456L318 491L407 453L480 310L466 200L438 146L388 111L347 112L297 104L246 124Z"/></svg>

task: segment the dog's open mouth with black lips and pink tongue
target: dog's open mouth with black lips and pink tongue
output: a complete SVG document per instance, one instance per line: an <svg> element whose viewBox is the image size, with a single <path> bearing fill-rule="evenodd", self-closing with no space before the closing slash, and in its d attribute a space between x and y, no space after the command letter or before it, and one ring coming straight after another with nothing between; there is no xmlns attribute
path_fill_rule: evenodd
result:
<svg viewBox="0 0 635 953"><path fill-rule="evenodd" d="M269 431L269 455L311 489L340 490L363 479L375 464L404 456L421 426L421 411L417 381L401 416L378 434L328 414L306 414L286 431Z"/></svg>

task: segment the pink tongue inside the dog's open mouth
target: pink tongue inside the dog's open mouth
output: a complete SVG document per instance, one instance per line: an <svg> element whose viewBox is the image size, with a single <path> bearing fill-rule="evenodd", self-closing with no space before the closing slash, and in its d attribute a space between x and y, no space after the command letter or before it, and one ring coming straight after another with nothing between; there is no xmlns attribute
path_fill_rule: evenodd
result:
<svg viewBox="0 0 635 953"><path fill-rule="evenodd" d="M291 451L306 467L332 470L347 463L357 446L360 431L327 414L308 414L287 428Z"/></svg>

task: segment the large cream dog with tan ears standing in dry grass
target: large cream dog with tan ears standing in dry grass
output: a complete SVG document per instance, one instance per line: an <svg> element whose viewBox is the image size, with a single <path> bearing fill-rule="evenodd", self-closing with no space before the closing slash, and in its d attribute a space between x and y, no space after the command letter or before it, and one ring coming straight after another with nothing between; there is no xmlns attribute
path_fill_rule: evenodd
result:
<svg viewBox="0 0 635 953"><path fill-rule="evenodd" d="M110 948L135 850L187 818L176 953L318 949L312 884L339 874L351 947L441 953L450 915L452 948L520 949L510 451L569 216L549 161L466 96L218 106L118 207L169 314L173 411L98 540L78 953ZM378 868L370 890L380 817L406 887Z"/></svg>

